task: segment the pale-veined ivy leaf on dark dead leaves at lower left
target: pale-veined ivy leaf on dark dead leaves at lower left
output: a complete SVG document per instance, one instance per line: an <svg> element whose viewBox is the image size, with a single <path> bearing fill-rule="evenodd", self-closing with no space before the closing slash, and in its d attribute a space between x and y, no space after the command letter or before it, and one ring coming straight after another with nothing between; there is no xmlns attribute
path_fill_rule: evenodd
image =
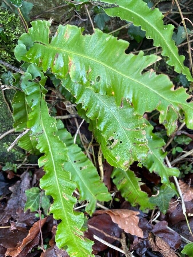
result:
<svg viewBox="0 0 193 257"><path fill-rule="evenodd" d="M32 187L25 190L27 196L27 201L25 203L24 212L28 209L31 212L35 212L39 209L39 200L40 200L40 189L39 187Z"/></svg>

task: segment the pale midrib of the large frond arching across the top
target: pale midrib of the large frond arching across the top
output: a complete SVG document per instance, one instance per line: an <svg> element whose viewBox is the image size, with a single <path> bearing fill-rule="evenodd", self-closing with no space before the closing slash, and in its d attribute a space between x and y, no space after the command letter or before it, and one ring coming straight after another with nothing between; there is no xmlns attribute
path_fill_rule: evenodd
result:
<svg viewBox="0 0 193 257"><path fill-rule="evenodd" d="M103 63L103 62L100 62L100 61L98 61L98 60L96 60L96 59L93 59L93 58L91 58L91 57L88 57L88 56L85 56L85 55L82 55L82 54L79 54L79 53L76 53L76 52L72 52L72 51L69 51L69 50L64 50L64 49L61 49L61 48L58 48L58 47L53 47L52 45L46 45L46 44L43 44L43 43L38 42L38 41L35 41L34 43L37 43L37 44L39 44L39 45L43 45L43 46L47 47L48 49L49 49L49 48L53 48L53 49L55 49L55 50L57 50L57 51L58 51L58 50L59 50L59 51L63 51L63 52L65 52L65 53L69 53L69 54L72 54L72 55L77 55L77 56L80 56L80 57L82 57L82 58L88 59L88 60L90 60L90 61L99 63L100 65L103 65L104 67L106 67L106 68L108 68L108 69L114 71L115 73L118 73L119 75L121 75L121 76L123 76L123 77L126 77L127 79L130 79L130 80L132 80L132 81L134 81L134 82L136 82L136 83L138 83L138 84L140 84L140 85L142 85L142 86L148 88L150 91L153 91L156 95L159 95L159 96L160 96L162 99L164 99L165 101L168 101L168 103L170 103L170 104L172 104L172 105L173 105L173 103L176 103L177 105L184 105L184 106L187 106L188 108L190 108L190 109L193 110L193 107L191 107L191 106L189 106L189 105L187 105L187 104L178 103L178 102L176 102L176 101L171 102L170 99L168 100L166 97L163 97L162 95L160 95L160 93L156 92L156 91L155 91L154 89L152 89L151 87L148 87L148 85L145 85L144 83L142 83L142 82L140 82L140 81L137 81L136 79L133 79L133 78L131 78L130 76L125 75L124 73L121 73L120 71L117 71L116 69L114 69L114 68L108 66L107 64L105 64L105 63ZM157 106L157 107L158 107L158 106ZM157 108L157 107L156 107L156 108Z"/></svg>

